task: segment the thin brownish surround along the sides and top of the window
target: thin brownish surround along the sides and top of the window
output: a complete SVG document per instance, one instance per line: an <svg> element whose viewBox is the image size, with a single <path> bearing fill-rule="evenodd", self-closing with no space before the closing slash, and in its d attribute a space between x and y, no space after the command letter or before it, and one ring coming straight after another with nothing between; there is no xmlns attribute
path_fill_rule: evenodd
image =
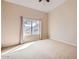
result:
<svg viewBox="0 0 79 59"><path fill-rule="evenodd" d="M32 19L32 20L38 20L40 22L40 39L42 39L42 21L40 19L35 19L35 18L28 18L28 17L20 17L20 40L19 40L19 44L22 44L22 40L23 40L23 18L27 18L27 19ZM32 30L31 30L32 31ZM32 33L31 33L32 34Z"/></svg>

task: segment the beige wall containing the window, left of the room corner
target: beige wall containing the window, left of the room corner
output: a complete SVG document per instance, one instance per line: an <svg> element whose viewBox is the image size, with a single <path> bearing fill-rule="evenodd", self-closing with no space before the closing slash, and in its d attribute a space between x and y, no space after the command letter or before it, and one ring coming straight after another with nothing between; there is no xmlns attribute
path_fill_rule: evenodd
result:
<svg viewBox="0 0 79 59"><path fill-rule="evenodd" d="M20 16L40 19L42 21L42 39L48 34L48 15L23 6L2 2L2 46L19 43Z"/></svg>

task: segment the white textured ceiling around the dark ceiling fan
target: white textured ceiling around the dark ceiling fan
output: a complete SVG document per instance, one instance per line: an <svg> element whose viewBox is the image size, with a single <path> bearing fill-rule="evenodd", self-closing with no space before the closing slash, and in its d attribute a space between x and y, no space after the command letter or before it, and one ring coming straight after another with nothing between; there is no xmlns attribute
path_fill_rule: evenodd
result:
<svg viewBox="0 0 79 59"><path fill-rule="evenodd" d="M46 2L46 0L42 0L42 2L39 2L39 0L5 0L5 1L43 12L50 12L52 9L64 3L66 0L50 0L50 2Z"/></svg>

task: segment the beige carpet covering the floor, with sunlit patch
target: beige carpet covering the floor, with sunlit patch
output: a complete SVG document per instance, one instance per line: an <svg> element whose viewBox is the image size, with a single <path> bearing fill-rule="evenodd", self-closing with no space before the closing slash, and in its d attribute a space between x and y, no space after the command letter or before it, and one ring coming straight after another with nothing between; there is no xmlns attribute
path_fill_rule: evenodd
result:
<svg viewBox="0 0 79 59"><path fill-rule="evenodd" d="M36 41L28 47L27 44L24 44L24 47L21 45L17 51L3 54L1 57L2 59L77 59L76 49L74 46L48 39Z"/></svg>

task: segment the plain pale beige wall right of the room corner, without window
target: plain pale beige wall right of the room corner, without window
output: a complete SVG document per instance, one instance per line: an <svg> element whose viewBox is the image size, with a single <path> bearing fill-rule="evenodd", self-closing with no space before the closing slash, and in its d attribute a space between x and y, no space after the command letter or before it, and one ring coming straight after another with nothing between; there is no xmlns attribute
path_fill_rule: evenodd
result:
<svg viewBox="0 0 79 59"><path fill-rule="evenodd" d="M67 0L49 13L51 39L76 46L76 0Z"/></svg>

